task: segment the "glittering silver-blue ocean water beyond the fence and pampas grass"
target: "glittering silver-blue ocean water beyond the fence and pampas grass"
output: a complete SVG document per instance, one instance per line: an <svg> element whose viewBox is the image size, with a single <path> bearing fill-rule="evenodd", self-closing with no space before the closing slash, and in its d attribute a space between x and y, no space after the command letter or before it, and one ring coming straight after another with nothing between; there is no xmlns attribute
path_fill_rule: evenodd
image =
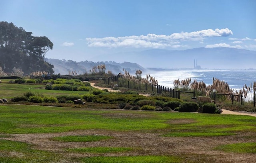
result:
<svg viewBox="0 0 256 163"><path fill-rule="evenodd" d="M175 71L152 71L150 76L158 80L158 84L173 88L174 80L183 80L191 78L194 80L204 81L206 85L212 84L213 78L225 81L234 90L240 90L244 84L250 86L250 83L256 81L256 70L175 70Z"/></svg>

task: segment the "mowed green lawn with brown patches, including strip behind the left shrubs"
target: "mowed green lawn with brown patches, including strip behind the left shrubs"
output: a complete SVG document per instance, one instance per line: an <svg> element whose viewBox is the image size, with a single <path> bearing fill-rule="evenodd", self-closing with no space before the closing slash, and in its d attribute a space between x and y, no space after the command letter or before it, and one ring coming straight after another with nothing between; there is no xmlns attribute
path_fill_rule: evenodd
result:
<svg viewBox="0 0 256 163"><path fill-rule="evenodd" d="M0 98L74 93L3 84ZM0 163L73 162L254 163L256 117L0 104Z"/></svg>

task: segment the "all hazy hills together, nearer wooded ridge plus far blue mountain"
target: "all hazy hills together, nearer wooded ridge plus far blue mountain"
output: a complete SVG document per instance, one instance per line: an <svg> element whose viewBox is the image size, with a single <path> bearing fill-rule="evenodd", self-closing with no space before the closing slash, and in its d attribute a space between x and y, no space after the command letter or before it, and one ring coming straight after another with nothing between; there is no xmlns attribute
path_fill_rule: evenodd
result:
<svg viewBox="0 0 256 163"><path fill-rule="evenodd" d="M108 61L111 58L112 61ZM143 72L161 69L194 69L195 61L202 69L256 69L256 51L228 47L194 48L187 50L150 49L100 55L94 61L75 62L71 60L47 59L54 65L55 73L68 74L68 71L79 71L80 74L92 69L92 66L105 64L106 71L130 73L140 69ZM152 69L151 69L152 70Z"/></svg>

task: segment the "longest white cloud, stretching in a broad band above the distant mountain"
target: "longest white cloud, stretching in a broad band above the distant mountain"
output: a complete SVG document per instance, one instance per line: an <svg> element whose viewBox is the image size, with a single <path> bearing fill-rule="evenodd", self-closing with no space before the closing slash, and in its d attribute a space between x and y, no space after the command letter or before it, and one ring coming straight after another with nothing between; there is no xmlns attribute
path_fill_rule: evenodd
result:
<svg viewBox="0 0 256 163"><path fill-rule="evenodd" d="M89 47L182 47L180 41L203 41L205 37L226 37L233 32L228 29L205 29L193 32L172 33L171 35L132 35L124 37L86 38Z"/></svg>

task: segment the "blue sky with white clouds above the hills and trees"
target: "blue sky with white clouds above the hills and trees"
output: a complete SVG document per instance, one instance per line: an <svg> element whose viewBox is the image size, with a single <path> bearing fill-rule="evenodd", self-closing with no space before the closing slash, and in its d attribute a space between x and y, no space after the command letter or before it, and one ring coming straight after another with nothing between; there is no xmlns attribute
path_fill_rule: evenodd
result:
<svg viewBox="0 0 256 163"><path fill-rule="evenodd" d="M0 21L54 43L47 58L93 61L152 48L256 50L256 0L0 0L0 6Z"/></svg>

